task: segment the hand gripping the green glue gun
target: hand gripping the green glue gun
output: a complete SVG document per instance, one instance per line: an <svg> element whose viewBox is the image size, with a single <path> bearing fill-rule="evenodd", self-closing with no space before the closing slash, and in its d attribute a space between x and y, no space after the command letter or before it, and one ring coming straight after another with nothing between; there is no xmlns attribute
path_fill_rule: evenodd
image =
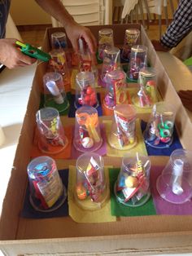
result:
<svg viewBox="0 0 192 256"><path fill-rule="evenodd" d="M7 68L24 67L37 60L24 55L15 45L16 39L0 39L0 63Z"/></svg>

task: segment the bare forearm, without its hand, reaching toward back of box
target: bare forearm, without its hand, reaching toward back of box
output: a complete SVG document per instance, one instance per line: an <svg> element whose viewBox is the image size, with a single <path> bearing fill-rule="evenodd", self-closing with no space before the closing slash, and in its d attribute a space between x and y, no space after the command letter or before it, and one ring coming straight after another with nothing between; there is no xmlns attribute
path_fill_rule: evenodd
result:
<svg viewBox="0 0 192 256"><path fill-rule="evenodd" d="M45 10L48 14L59 20L63 27L66 28L68 24L76 23L72 15L63 6L60 0L35 0L37 4Z"/></svg>

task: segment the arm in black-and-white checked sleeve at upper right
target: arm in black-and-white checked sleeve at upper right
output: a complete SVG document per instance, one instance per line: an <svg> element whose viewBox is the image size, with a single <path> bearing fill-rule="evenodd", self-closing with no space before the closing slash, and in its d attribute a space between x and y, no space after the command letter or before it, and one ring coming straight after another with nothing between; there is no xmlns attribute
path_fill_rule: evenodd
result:
<svg viewBox="0 0 192 256"><path fill-rule="evenodd" d="M153 41L156 51L169 51L192 30L192 0L181 0L172 23L158 41Z"/></svg>

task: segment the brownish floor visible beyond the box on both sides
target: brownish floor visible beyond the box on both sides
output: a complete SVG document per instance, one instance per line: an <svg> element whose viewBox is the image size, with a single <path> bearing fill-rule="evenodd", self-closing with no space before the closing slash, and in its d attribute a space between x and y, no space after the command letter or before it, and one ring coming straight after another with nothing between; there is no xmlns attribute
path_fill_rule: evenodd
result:
<svg viewBox="0 0 192 256"><path fill-rule="evenodd" d="M46 28L51 27L51 24L46 25L29 25L29 26L18 26L21 38L23 42L39 47L42 44ZM162 33L164 33L166 26L162 26ZM146 29L146 33L150 39L159 39L159 26L157 24L151 24L149 29Z"/></svg>

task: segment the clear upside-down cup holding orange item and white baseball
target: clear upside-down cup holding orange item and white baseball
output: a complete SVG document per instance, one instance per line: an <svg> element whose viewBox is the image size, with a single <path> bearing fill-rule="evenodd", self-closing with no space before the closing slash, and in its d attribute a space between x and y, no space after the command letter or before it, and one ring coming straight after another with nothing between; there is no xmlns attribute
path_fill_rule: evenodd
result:
<svg viewBox="0 0 192 256"><path fill-rule="evenodd" d="M94 152L102 146L102 143L97 109L89 106L78 108L73 139L76 150Z"/></svg>

